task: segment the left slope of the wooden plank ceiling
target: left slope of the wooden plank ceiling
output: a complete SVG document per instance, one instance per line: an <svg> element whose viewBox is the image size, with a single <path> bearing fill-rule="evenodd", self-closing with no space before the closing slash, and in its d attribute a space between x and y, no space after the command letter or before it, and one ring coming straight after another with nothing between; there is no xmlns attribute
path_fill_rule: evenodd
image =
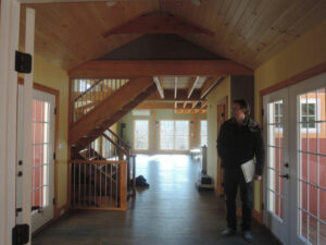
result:
<svg viewBox="0 0 326 245"><path fill-rule="evenodd" d="M36 9L35 51L70 70L138 38L137 34L110 38L101 35L133 15L156 10L158 1L124 2L112 8L104 2L24 4L23 15L26 7ZM21 20L24 26L25 17ZM24 44L21 29L21 44Z"/></svg>

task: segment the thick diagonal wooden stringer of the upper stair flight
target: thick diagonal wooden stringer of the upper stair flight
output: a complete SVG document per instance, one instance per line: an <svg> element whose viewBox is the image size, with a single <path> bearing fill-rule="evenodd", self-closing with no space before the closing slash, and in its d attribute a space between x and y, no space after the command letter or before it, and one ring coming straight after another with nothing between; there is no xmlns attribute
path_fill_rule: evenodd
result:
<svg viewBox="0 0 326 245"><path fill-rule="evenodd" d="M87 101L87 105L96 106L70 126L68 143L73 151L77 152L95 140L155 89L151 77L139 77L124 84L102 101Z"/></svg>

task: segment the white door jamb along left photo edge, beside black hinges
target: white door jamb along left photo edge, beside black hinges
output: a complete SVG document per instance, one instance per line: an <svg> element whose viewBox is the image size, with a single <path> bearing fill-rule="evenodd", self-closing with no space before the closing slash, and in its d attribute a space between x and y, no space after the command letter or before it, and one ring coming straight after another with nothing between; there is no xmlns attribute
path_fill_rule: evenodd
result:
<svg viewBox="0 0 326 245"><path fill-rule="evenodd" d="M0 27L0 244L12 244L15 226L16 105L21 3L1 0Z"/></svg>

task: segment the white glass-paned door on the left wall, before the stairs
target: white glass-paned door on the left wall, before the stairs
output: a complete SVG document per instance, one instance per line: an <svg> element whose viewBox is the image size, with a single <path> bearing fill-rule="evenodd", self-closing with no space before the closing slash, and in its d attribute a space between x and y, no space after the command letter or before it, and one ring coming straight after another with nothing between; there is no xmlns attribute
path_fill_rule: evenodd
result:
<svg viewBox="0 0 326 245"><path fill-rule="evenodd" d="M18 98L23 96L24 86L18 86ZM20 99L18 99L20 100ZM23 142L20 140L20 128L23 128L21 115L23 114L22 101L18 101L18 147L17 155L21 159ZM25 189L21 180L17 179L17 205L23 192L30 192L32 197L32 232L39 229L53 218L54 198L54 108L55 96L33 90L32 102L32 189ZM21 166L18 163L17 169ZM17 217L20 219L20 217Z"/></svg>

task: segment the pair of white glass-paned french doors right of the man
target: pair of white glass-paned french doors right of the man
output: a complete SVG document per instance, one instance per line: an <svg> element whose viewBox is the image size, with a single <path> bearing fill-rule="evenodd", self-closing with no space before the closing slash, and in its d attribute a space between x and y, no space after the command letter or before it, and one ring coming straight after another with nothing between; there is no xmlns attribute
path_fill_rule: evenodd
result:
<svg viewBox="0 0 326 245"><path fill-rule="evenodd" d="M326 74L264 97L264 222L284 243L326 244Z"/></svg>

